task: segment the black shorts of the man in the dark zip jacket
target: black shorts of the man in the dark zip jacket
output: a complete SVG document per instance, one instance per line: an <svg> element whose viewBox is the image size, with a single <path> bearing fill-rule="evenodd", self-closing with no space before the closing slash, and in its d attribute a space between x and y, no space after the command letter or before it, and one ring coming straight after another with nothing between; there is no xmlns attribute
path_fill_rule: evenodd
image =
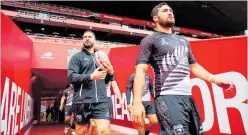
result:
<svg viewBox="0 0 248 135"><path fill-rule="evenodd" d="M108 102L75 104L74 109L77 124L89 124L90 119L111 119Z"/></svg>

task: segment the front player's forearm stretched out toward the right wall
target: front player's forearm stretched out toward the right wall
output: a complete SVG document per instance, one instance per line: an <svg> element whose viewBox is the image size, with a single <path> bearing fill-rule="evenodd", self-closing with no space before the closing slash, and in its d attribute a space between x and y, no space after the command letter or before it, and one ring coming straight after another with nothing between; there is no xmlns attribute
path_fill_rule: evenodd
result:
<svg viewBox="0 0 248 135"><path fill-rule="evenodd" d="M197 77L205 81L213 82L215 77L199 64L191 64L190 71Z"/></svg>

